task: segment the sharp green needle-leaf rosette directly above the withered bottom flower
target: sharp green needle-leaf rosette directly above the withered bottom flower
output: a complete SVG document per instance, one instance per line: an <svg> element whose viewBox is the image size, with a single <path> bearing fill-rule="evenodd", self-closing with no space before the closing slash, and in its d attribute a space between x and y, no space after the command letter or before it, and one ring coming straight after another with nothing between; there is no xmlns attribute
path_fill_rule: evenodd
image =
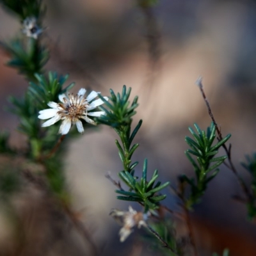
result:
<svg viewBox="0 0 256 256"><path fill-rule="evenodd" d="M161 185L161 182L156 182L158 178L158 171L155 170L152 178L147 181L147 159L144 161L142 177L140 181L137 180L131 173L127 171L122 171L118 173L120 179L122 179L125 184L129 187L129 191L116 190L116 193L123 196L117 196L117 199L140 202L145 207L145 212L148 209L156 209L161 200L166 198L166 195L156 195L163 188L166 188L170 182L165 182Z"/></svg>

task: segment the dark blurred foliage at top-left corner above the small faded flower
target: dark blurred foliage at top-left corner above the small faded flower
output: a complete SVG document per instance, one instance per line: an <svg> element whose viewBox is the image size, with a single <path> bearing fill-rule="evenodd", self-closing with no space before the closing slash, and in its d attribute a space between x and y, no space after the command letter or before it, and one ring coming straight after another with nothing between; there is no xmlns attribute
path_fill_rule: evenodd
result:
<svg viewBox="0 0 256 256"><path fill-rule="evenodd" d="M24 3L22 3L24 2ZM19 16L22 22L26 17L40 17L42 14L42 0L0 0L0 3Z"/></svg>

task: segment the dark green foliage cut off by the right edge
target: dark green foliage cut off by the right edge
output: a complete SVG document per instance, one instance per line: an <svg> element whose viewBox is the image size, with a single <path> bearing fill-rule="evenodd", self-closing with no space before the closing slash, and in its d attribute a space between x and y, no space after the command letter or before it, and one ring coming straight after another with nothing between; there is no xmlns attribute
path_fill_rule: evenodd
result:
<svg viewBox="0 0 256 256"><path fill-rule="evenodd" d="M241 165L248 170L250 175L252 176L251 189L252 196L248 198L247 202L247 211L248 218L253 220L256 217L256 153L252 154L252 156L245 156L246 163L241 163Z"/></svg>

